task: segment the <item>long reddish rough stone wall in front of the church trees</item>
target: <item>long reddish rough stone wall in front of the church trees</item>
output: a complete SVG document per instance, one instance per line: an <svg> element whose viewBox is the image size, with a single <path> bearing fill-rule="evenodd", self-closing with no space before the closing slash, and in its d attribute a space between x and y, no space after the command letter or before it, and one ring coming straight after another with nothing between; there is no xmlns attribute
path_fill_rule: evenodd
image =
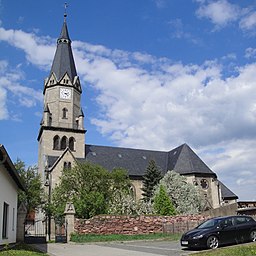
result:
<svg viewBox="0 0 256 256"><path fill-rule="evenodd" d="M78 234L150 234L183 233L207 219L190 216L112 216L99 215L91 219L76 219Z"/></svg>

